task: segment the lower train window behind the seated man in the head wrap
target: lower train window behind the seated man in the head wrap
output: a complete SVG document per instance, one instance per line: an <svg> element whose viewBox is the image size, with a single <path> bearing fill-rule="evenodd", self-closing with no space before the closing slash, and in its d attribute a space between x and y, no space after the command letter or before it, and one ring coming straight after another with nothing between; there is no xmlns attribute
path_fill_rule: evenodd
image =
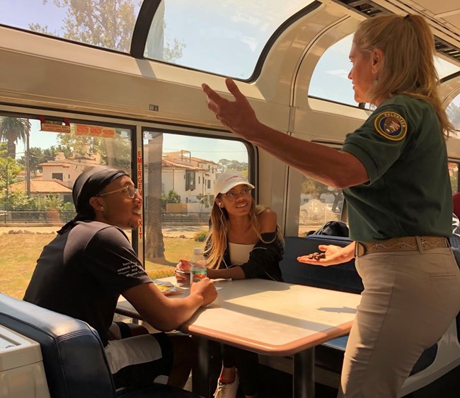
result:
<svg viewBox="0 0 460 398"><path fill-rule="evenodd" d="M131 174L131 129L62 120L0 117L0 269L2 291L16 298L42 248L75 216L76 177L94 165Z"/></svg>

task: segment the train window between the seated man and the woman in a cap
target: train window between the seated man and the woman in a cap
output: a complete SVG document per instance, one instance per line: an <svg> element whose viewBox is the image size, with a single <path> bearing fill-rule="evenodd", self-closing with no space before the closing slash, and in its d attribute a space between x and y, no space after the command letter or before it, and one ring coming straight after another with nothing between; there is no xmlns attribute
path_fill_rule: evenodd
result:
<svg viewBox="0 0 460 398"><path fill-rule="evenodd" d="M154 277L173 274L179 259L204 245L220 172L248 172L241 141L146 129L144 146L144 264Z"/></svg>

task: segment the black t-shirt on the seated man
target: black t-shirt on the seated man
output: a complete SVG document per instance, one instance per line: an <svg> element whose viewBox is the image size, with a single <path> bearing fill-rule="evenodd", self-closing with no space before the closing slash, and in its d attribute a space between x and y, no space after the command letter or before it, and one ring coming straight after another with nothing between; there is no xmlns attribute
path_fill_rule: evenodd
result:
<svg viewBox="0 0 460 398"><path fill-rule="evenodd" d="M150 281L120 228L80 221L45 246L24 300L87 322L105 346L120 294Z"/></svg>

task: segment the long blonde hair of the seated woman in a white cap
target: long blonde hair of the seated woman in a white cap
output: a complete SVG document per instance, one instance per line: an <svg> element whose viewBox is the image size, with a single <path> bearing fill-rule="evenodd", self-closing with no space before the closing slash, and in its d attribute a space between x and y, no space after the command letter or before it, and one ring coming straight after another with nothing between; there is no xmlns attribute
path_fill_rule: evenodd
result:
<svg viewBox="0 0 460 398"><path fill-rule="evenodd" d="M274 240L279 240L284 247L284 238L281 233L280 226L276 226L276 236L273 240L265 242L260 235L260 224L258 221L258 215L268 209L268 206L255 205L254 201L251 203L251 209L249 210L249 216L251 218L251 226L257 236L264 243L271 243ZM219 264L224 259L224 253L226 250L226 235L229 232L229 213L226 209L222 209L217 204L212 206L211 211L211 226L207 233L205 240L205 254L207 254L207 267L215 269L219 267Z"/></svg>

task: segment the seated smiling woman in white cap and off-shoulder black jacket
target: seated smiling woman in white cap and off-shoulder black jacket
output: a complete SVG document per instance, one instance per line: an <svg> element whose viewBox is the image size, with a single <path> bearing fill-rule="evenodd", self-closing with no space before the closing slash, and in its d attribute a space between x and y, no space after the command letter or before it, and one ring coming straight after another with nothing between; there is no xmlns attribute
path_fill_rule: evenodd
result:
<svg viewBox="0 0 460 398"><path fill-rule="evenodd" d="M227 171L217 178L205 244L210 279L282 281L280 261L284 240L277 226L277 215L267 206L255 205L251 197L253 188L238 171ZM178 269L188 270L190 263L180 260ZM184 279L180 273L176 278ZM236 397L238 379L245 397L258 397L258 356L223 344L222 371L214 397Z"/></svg>

